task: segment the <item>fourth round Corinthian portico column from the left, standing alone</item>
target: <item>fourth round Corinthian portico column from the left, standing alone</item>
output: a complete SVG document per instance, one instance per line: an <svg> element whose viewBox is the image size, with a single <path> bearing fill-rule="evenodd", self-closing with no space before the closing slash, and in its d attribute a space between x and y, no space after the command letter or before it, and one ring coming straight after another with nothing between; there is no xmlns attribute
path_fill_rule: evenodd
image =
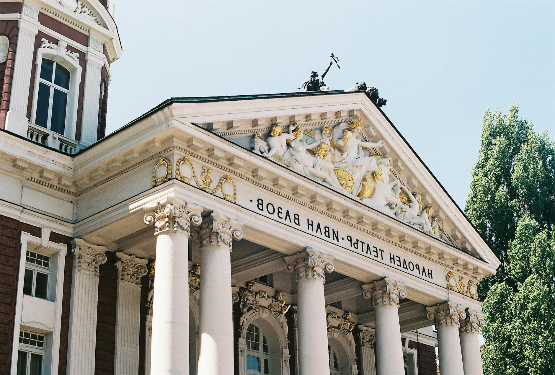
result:
<svg viewBox="0 0 555 375"><path fill-rule="evenodd" d="M387 277L362 285L362 296L371 298L374 307L378 375L405 375L399 325L399 298L407 296L404 286Z"/></svg>

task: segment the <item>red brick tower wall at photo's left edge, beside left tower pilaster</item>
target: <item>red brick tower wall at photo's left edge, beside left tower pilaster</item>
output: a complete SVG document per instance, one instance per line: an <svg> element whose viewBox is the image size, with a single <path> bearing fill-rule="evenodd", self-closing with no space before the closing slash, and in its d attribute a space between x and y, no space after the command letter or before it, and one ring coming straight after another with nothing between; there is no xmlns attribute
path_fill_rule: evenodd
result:
<svg viewBox="0 0 555 375"><path fill-rule="evenodd" d="M4 7L4 5L2 7ZM21 9L21 4L19 4L18 8ZM6 9L6 11L8 10L9 9ZM4 12L4 8L2 8L2 11ZM19 13L19 11L16 13ZM6 129L9 95L12 92L13 67L16 62L17 33L18 28L16 20L0 21L0 35L7 36L9 39L8 58L6 62L0 64L0 82L2 82L2 86L0 87L0 128L2 129Z"/></svg>

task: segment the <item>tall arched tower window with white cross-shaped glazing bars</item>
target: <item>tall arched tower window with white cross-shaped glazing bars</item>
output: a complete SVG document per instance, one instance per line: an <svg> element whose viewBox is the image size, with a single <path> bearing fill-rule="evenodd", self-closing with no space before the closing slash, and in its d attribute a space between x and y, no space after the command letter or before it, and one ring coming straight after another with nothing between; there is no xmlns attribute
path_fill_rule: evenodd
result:
<svg viewBox="0 0 555 375"><path fill-rule="evenodd" d="M49 59L42 59L35 124L64 134L69 94L69 70Z"/></svg>

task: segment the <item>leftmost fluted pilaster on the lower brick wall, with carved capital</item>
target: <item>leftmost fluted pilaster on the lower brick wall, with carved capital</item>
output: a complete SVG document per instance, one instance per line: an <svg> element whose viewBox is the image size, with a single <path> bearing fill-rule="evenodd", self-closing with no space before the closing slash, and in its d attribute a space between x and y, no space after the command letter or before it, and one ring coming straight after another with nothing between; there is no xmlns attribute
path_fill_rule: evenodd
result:
<svg viewBox="0 0 555 375"><path fill-rule="evenodd" d="M68 374L93 374L97 337L98 275L106 248L72 241L73 272L69 308Z"/></svg>

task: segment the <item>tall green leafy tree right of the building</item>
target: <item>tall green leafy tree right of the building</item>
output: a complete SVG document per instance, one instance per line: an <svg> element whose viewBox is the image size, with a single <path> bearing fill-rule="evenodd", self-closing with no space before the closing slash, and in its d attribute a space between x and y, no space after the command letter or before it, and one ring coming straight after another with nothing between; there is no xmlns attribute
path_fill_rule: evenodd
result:
<svg viewBox="0 0 555 375"><path fill-rule="evenodd" d="M555 374L555 144L486 110L466 214L502 264L478 286L487 374Z"/></svg>

